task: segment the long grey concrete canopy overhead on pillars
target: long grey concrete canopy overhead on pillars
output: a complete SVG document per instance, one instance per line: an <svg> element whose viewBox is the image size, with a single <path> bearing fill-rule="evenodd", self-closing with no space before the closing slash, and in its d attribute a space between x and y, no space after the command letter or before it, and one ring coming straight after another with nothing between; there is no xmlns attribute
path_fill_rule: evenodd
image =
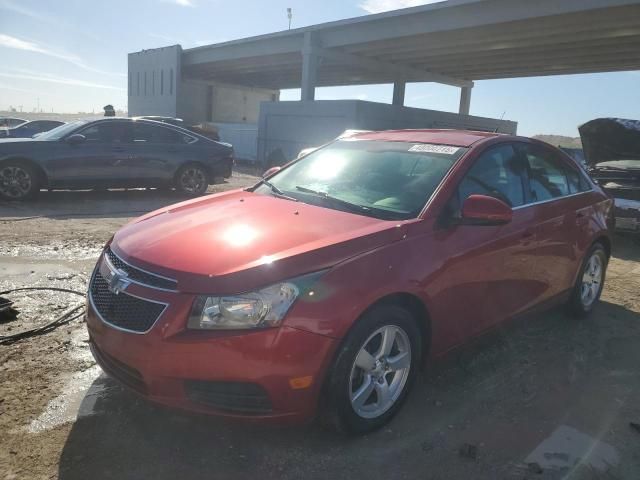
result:
<svg viewBox="0 0 640 480"><path fill-rule="evenodd" d="M640 69L640 0L449 0L186 49L188 78L269 89ZM465 90L467 98L465 97Z"/></svg>

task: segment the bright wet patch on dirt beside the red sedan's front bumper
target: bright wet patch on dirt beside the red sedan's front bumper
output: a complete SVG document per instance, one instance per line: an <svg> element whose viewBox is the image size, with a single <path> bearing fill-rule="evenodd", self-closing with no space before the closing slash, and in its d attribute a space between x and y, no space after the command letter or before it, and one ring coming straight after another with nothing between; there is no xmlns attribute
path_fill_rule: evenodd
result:
<svg viewBox="0 0 640 480"><path fill-rule="evenodd" d="M29 433L40 433L82 417L101 413L98 400L107 397L115 388L113 382L107 379L93 361L86 343L86 330L75 330L71 339L73 348L69 350L70 356L84 362L88 368L69 376L62 393L51 400L40 416L26 426Z"/></svg>

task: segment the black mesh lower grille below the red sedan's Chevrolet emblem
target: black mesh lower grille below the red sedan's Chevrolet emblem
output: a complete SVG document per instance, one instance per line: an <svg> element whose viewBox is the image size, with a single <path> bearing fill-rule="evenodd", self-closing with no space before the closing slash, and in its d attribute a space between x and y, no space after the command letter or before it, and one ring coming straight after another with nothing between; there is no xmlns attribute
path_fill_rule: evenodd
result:
<svg viewBox="0 0 640 480"><path fill-rule="evenodd" d="M94 274L89 291L91 301L103 321L136 333L149 330L166 306L124 292L113 293L99 271Z"/></svg>

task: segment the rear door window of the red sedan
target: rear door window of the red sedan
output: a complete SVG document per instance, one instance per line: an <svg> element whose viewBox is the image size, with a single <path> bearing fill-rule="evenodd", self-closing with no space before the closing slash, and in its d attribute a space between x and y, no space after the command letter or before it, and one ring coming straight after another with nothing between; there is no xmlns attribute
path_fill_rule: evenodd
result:
<svg viewBox="0 0 640 480"><path fill-rule="evenodd" d="M569 195L569 182L562 160L537 145L523 145L522 148L529 163L531 201L543 202Z"/></svg>

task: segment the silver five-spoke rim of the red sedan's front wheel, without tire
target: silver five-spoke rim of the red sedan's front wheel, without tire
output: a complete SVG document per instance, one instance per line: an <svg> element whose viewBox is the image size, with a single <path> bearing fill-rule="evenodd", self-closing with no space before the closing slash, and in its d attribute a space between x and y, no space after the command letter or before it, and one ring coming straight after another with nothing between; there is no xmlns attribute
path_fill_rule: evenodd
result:
<svg viewBox="0 0 640 480"><path fill-rule="evenodd" d="M389 410L404 390L411 368L411 343L395 325L379 328L364 342L351 368L349 398L362 418Z"/></svg>

